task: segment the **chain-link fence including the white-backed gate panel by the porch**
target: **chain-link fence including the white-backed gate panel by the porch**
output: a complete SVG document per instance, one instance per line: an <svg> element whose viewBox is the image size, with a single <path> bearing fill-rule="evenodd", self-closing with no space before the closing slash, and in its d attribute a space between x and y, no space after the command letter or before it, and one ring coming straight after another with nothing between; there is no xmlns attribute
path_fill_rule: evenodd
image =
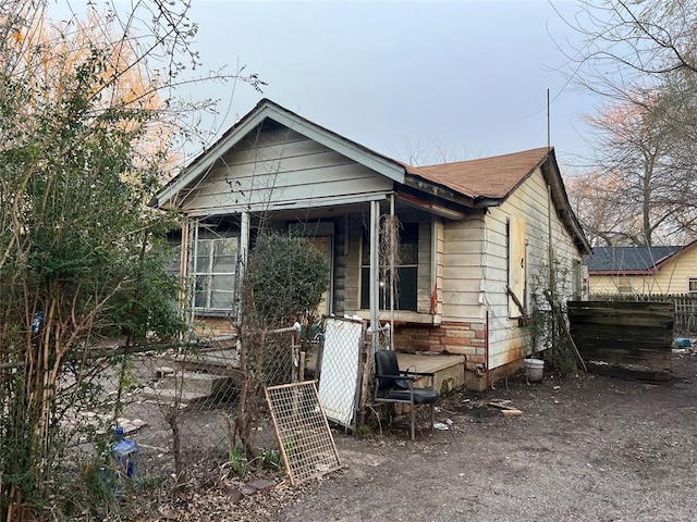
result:
<svg viewBox="0 0 697 522"><path fill-rule="evenodd" d="M114 341L73 358L57 381L60 399L52 412L66 448L59 465L78 476L88 462L99 462L121 426L138 445L139 481L210 483L230 470L231 459L247 462L235 449L247 445L261 456L276 451L281 472L282 448L265 388L306 381L317 381L330 425L355 428L368 397L363 321L327 319L306 340L297 327L255 336L254 343L228 336L155 348ZM5 363L0 378L7 383L22 371ZM5 411L7 399L0 397ZM8 430L0 427L0 436Z"/></svg>

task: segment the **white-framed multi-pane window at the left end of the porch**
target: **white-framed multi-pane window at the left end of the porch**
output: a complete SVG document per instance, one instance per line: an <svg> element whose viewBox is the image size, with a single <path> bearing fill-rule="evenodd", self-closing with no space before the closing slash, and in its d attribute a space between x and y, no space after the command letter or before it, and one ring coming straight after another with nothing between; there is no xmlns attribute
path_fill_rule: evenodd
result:
<svg viewBox="0 0 697 522"><path fill-rule="evenodd" d="M232 310L236 268L236 237L196 241L194 308L196 310Z"/></svg>

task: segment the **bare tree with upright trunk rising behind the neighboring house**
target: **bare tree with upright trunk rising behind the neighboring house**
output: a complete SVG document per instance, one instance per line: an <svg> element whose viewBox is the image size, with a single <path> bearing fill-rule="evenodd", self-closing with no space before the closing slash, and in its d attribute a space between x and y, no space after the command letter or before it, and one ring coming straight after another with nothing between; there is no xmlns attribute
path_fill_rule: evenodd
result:
<svg viewBox="0 0 697 522"><path fill-rule="evenodd" d="M661 94L648 92L637 95L633 103L606 105L587 116L596 129L596 174L585 182L595 183L595 201L609 211L592 216L595 232L606 240L612 236L634 245L667 240L683 228L683 214L694 208L687 197L692 170L675 164L681 148L663 104ZM607 221L597 222L600 216Z"/></svg>

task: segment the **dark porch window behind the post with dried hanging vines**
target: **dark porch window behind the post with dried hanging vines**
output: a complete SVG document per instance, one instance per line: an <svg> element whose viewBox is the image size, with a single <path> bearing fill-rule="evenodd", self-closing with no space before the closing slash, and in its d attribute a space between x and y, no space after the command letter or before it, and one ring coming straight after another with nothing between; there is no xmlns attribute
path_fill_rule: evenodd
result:
<svg viewBox="0 0 697 522"><path fill-rule="evenodd" d="M394 307L396 310L417 311L418 283L418 223L406 223L400 231L400 264L396 269L398 283ZM390 274L381 273L379 306L390 309ZM360 308L370 308L370 236L363 236L363 258L360 261Z"/></svg>

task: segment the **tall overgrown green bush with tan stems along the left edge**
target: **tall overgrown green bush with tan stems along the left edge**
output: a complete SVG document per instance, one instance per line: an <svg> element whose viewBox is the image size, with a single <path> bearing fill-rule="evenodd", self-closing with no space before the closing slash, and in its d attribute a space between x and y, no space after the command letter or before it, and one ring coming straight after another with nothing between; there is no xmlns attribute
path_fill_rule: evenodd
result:
<svg viewBox="0 0 697 522"><path fill-rule="evenodd" d="M145 206L166 157L143 154L152 98L121 97L119 42L49 29L42 2L11 4L0 12L2 521L60 505L74 482L63 472L76 473L69 451L90 435L68 421L113 410L91 359L101 335L117 326L135 343L182 327L163 306L176 281L152 248L168 217ZM94 473L81 476L90 490Z"/></svg>

